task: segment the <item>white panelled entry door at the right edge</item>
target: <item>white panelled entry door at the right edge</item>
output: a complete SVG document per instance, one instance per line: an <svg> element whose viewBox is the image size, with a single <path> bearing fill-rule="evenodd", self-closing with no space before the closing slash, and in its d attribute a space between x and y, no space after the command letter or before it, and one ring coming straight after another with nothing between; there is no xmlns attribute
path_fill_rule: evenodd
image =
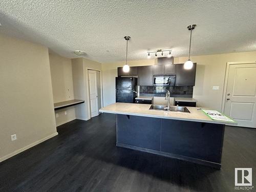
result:
<svg viewBox="0 0 256 192"><path fill-rule="evenodd" d="M256 63L229 66L224 113L256 128Z"/></svg>

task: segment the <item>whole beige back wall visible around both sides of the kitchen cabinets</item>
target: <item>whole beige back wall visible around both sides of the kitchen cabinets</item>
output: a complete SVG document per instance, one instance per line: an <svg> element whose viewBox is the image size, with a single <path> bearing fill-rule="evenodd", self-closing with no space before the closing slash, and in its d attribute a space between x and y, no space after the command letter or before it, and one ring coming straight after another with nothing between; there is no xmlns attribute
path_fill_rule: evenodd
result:
<svg viewBox="0 0 256 192"><path fill-rule="evenodd" d="M187 57L175 57L174 63L184 63ZM221 111L225 69L227 62L254 62L256 52L229 53L218 55L203 55L191 57L197 62L196 84L193 97L198 105ZM102 65L103 103L104 106L115 102L115 77L117 67L124 62L105 63ZM129 61L130 66L155 65L155 59ZM219 90L212 90L212 86L219 86Z"/></svg>

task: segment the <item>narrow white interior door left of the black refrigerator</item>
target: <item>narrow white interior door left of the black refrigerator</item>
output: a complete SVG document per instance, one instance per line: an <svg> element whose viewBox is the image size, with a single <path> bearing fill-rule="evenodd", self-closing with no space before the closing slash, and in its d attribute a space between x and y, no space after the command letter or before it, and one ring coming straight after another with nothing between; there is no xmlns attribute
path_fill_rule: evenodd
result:
<svg viewBox="0 0 256 192"><path fill-rule="evenodd" d="M99 115L96 71L88 70L91 117Z"/></svg>

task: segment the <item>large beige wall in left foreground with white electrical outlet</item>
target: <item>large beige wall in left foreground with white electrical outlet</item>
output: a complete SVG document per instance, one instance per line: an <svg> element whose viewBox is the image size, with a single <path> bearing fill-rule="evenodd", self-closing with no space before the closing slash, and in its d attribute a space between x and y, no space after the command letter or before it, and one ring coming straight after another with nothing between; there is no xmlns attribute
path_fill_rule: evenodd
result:
<svg viewBox="0 0 256 192"><path fill-rule="evenodd" d="M48 49L0 34L0 161L56 135ZM11 141L16 134L17 140Z"/></svg>

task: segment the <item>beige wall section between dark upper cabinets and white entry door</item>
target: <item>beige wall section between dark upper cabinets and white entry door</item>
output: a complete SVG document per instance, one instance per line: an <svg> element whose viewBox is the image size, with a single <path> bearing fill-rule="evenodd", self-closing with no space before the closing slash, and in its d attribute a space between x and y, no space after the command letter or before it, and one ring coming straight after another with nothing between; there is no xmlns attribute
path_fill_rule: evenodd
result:
<svg viewBox="0 0 256 192"><path fill-rule="evenodd" d="M177 62L184 63L186 57L180 57ZM222 96L227 62L254 62L256 52L229 53L218 55L203 55L191 57L197 62L196 84L193 97L198 105L221 111ZM219 90L212 90L212 86L219 86Z"/></svg>

